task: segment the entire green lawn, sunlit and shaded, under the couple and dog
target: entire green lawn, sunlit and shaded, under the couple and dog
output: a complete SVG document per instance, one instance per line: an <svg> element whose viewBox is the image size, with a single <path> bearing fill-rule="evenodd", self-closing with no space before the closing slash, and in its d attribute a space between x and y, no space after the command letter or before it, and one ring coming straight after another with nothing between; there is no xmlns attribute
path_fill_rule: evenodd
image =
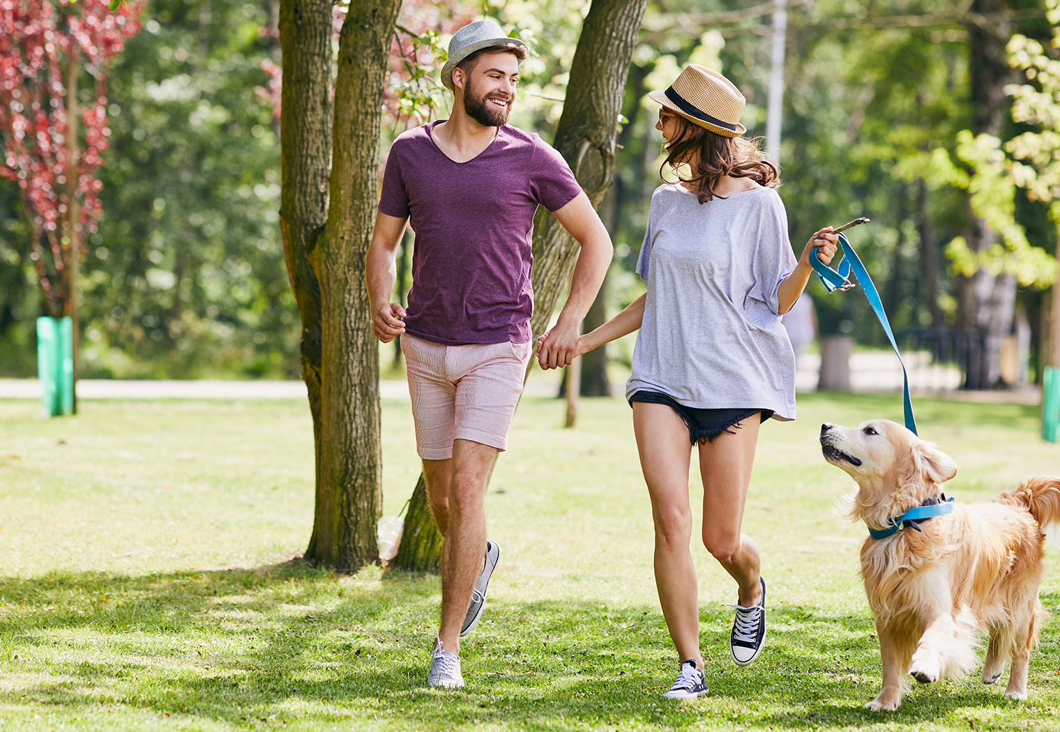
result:
<svg viewBox="0 0 1060 732"><path fill-rule="evenodd" d="M915 407L959 465L960 500L1060 471L1034 408ZM383 409L393 514L419 465L407 404ZM677 659L630 408L583 400L573 430L562 409L519 407L487 498L505 556L463 644L467 686L439 693L423 684L437 577L290 561L313 512L303 403L85 401L45 421L35 403L0 401L0 730L1060 729L1056 625L1026 702L976 675L914 689L896 713L862 709L880 684L865 530L831 512L851 483L816 433L900 419L897 395L800 395L798 422L763 426L745 531L771 583L770 642L749 668L727 659L735 586L693 542L711 691L664 703Z"/></svg>

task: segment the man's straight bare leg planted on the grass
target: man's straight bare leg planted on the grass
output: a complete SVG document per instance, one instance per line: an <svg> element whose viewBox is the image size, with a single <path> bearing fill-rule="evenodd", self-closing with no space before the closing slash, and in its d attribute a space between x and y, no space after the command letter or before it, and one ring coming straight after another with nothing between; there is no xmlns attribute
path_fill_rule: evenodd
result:
<svg viewBox="0 0 1060 732"><path fill-rule="evenodd" d="M442 544L442 647L460 655L460 627L467 614L485 548L485 488L497 448L469 440L453 443L448 524ZM425 461L426 462L426 461ZM429 483L428 483L429 486Z"/></svg>

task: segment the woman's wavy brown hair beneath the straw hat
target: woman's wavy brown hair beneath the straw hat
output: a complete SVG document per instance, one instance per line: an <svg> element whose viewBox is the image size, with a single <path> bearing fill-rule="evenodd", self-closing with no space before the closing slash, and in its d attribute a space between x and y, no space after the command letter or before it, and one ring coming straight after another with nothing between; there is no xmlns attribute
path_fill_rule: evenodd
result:
<svg viewBox="0 0 1060 732"><path fill-rule="evenodd" d="M701 203L716 196L718 180L722 176L750 178L759 185L776 188L780 185L780 172L776 163L758 148L758 140L726 138L709 129L692 124L679 114L678 132L674 142L667 147L666 160L659 166L659 176L669 166L685 183L695 186L695 195ZM682 177L678 167L689 165L691 176ZM664 178L666 180L666 178Z"/></svg>

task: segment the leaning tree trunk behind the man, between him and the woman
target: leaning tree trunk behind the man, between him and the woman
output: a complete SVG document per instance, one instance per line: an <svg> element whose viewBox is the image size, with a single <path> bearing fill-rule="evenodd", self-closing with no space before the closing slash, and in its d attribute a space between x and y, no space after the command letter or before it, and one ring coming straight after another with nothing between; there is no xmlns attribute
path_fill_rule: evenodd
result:
<svg viewBox="0 0 1060 732"><path fill-rule="evenodd" d="M647 4L648 0L594 0L570 65L570 82L553 146L567 160L594 207L607 192L614 174L615 136L625 74ZM545 332L560 292L570 278L576 251L570 235L555 217L540 209L533 234L534 314L530 327L534 341ZM534 363L531 358L527 374ZM422 483L423 476L417 487ZM402 560L408 554L405 537L429 535L431 531L437 533L438 529L429 512L421 512L417 520L411 515L405 519L402 547L394 558L396 569L416 569ZM437 548L440 556L440 541ZM430 558L437 566L437 557Z"/></svg>

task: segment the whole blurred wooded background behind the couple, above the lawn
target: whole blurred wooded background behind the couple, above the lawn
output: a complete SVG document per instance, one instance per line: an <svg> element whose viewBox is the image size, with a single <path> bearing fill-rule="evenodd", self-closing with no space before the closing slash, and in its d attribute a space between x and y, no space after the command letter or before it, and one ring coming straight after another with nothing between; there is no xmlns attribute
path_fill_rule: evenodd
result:
<svg viewBox="0 0 1060 732"><path fill-rule="evenodd" d="M278 5L152 0L106 71L102 214L85 234L77 296L82 378L299 378L298 313L279 232ZM588 5L406 0L387 81L384 159L396 135L446 115L441 49L456 28L483 15L534 48L511 122L551 141ZM869 217L851 240L918 365L914 387L1040 381L1055 320L1057 221L1048 196L1011 184L1020 167L1009 143L1043 129L1014 121L1026 120L1013 115L1013 103L1028 79L1013 68L1012 39L1037 41L1055 58L1049 2L779 5L649 4L629 73L617 174L600 207L616 255L586 329L642 291L633 267L661 162L657 107L647 92L665 89L688 63L720 70L747 97L748 135L764 138L777 69L779 192L796 254L816 229ZM337 23L341 12L336 6ZM785 40L779 68L778 33ZM91 88L82 93L91 101ZM36 375L35 321L46 315L22 206L16 182L0 178L0 377ZM410 233L399 297L410 284L412 247ZM808 292L813 335L801 346L800 385L816 386L809 371L824 361L840 367L835 376L822 374L823 386L849 387L843 370L867 350L887 347L885 335L860 291L827 294L814 280ZM606 360L586 360L581 393L605 393L631 349L626 339ZM381 357L386 370L400 370L392 346Z"/></svg>

